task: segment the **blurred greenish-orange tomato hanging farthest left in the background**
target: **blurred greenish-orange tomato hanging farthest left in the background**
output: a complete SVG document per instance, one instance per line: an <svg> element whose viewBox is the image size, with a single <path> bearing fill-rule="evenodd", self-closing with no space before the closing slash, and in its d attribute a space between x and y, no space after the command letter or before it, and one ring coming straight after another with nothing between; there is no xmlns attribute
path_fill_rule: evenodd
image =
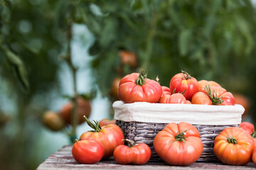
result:
<svg viewBox="0 0 256 170"><path fill-rule="evenodd" d="M63 118L58 113L53 111L43 113L43 124L53 131L59 131L65 127Z"/></svg>

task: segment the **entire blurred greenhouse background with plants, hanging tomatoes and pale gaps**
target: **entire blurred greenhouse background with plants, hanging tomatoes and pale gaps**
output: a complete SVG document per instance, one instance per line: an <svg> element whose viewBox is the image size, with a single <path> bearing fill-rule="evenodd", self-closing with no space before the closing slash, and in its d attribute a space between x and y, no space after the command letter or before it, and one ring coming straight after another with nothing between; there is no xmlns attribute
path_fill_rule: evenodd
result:
<svg viewBox="0 0 256 170"><path fill-rule="evenodd" d="M255 123L255 10L247 0L0 0L0 168L36 169L90 130L73 108L113 118L119 79L141 68L162 86L181 69L217 81Z"/></svg>

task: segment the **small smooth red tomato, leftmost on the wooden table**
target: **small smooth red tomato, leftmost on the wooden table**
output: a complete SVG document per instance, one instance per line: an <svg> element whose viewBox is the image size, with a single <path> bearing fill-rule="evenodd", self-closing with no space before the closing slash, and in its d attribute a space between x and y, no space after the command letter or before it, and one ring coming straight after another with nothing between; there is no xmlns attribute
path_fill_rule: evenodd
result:
<svg viewBox="0 0 256 170"><path fill-rule="evenodd" d="M75 142L72 148L74 159L82 164L95 164L102 159L104 147L92 138L82 139Z"/></svg>

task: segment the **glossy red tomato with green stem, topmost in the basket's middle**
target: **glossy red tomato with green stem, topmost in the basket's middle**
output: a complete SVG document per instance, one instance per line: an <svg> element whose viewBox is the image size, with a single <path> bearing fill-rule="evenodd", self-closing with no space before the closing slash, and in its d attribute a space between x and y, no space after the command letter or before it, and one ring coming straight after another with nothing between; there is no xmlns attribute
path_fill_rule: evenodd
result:
<svg viewBox="0 0 256 170"><path fill-rule="evenodd" d="M175 90L175 93L182 93L186 90L183 95L186 100L191 101L193 94L199 91L199 85L194 77L182 71L182 73L178 73L171 78L170 90Z"/></svg>

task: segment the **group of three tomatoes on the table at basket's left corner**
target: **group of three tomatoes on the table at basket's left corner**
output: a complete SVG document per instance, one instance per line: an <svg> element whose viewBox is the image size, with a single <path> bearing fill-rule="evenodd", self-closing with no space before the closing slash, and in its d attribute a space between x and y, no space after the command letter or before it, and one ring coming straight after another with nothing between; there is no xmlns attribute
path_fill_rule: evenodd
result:
<svg viewBox="0 0 256 170"><path fill-rule="evenodd" d="M72 154L77 162L95 164L101 159L114 156L119 164L146 164L151 157L151 149L142 143L134 146L124 140L124 133L115 120L103 119L93 123L85 117L87 124L94 131L84 132L73 145ZM124 145L129 142L130 147Z"/></svg>

